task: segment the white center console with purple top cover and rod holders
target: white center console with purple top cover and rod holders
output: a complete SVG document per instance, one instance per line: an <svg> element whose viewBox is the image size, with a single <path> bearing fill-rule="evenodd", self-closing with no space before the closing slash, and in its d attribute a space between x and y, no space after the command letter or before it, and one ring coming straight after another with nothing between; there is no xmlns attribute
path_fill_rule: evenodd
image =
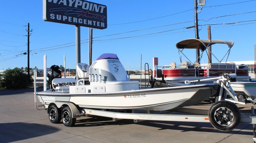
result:
<svg viewBox="0 0 256 143"><path fill-rule="evenodd" d="M128 81L128 77L117 55L104 53L92 64L90 81Z"/></svg>

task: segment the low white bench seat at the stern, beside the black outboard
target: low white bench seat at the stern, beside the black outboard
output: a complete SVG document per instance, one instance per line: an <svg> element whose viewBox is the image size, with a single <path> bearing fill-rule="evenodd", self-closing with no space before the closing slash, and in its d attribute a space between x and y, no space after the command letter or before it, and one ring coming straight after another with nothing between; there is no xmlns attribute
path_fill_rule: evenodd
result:
<svg viewBox="0 0 256 143"><path fill-rule="evenodd" d="M70 85L76 85L76 79L74 78L56 78L52 80L52 88L54 90L68 89Z"/></svg>

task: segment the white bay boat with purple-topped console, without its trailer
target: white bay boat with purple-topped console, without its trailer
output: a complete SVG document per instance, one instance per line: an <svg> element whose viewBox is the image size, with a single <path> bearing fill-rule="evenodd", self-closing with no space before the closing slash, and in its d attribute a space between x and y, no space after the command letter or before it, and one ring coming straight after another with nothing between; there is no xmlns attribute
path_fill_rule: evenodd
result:
<svg viewBox="0 0 256 143"><path fill-rule="evenodd" d="M130 81L116 54L102 54L90 66L78 64L81 78L74 86L56 86L38 92L46 106L55 101L72 102L80 108L168 110L183 104L198 104L216 92L217 84L139 89L138 81ZM89 85L84 84L86 80ZM63 79L68 83L67 79ZM70 81L74 82L74 81ZM190 99L191 102L190 102ZM196 100L195 100L196 99ZM189 104L188 104L189 103Z"/></svg>

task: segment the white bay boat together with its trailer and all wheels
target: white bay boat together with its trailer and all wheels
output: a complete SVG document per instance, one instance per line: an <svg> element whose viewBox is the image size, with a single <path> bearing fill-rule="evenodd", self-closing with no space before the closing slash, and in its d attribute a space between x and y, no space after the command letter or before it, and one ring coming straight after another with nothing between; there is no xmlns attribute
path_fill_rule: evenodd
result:
<svg viewBox="0 0 256 143"><path fill-rule="evenodd" d="M229 86L230 75L219 77L218 83L222 84L139 89L138 81L129 80L115 54L103 54L90 68L87 64L78 64L77 73L81 78L77 82L68 78L53 79L53 89L38 93L35 76L35 107L47 110L52 123L62 121L65 126L74 126L76 118L87 115L110 117L113 121L133 119L134 122L210 122L212 126L223 131L236 128L239 122L254 123L254 117L241 116L239 108L233 104L239 101ZM89 85L85 84L87 80L90 81ZM224 92L227 94L223 94ZM198 104L212 95L218 97L218 102L212 105L208 115L155 114L152 111ZM226 95L232 96L232 99L227 99ZM37 97L42 104L37 104Z"/></svg>

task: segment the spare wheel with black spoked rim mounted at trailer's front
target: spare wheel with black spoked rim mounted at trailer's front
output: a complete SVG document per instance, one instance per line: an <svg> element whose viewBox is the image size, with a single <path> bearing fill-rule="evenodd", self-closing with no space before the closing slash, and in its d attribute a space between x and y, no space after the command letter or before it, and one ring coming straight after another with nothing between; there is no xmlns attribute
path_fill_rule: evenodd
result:
<svg viewBox="0 0 256 143"><path fill-rule="evenodd" d="M216 102L208 114L212 126L221 131L235 129L241 118L238 107L230 101Z"/></svg>

